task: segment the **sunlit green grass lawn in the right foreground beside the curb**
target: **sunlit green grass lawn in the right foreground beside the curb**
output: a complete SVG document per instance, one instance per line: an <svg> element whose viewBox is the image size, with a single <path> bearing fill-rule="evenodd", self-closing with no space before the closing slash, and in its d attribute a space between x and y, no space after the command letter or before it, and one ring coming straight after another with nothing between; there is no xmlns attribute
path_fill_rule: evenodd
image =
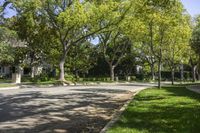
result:
<svg viewBox="0 0 200 133"><path fill-rule="evenodd" d="M181 86L144 90L108 133L200 133L200 95Z"/></svg>

